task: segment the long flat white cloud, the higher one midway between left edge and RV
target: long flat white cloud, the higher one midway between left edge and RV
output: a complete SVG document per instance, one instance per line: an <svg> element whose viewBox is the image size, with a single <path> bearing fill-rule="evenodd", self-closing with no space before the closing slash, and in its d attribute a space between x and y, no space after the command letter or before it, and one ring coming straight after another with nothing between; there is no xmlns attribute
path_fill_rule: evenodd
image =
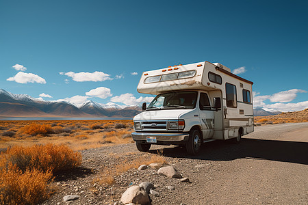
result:
<svg viewBox="0 0 308 205"><path fill-rule="evenodd" d="M110 74L95 71L95 72L66 72L66 76L71 77L73 81L77 82L85 82L85 81L107 81L107 80L112 80L110 78Z"/></svg>

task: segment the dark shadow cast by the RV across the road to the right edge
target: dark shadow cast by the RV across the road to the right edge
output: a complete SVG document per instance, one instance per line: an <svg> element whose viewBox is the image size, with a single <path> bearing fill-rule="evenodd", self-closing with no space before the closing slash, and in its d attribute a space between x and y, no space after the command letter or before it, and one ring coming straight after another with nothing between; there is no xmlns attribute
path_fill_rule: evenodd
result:
<svg viewBox="0 0 308 205"><path fill-rule="evenodd" d="M157 150L151 150L157 153ZM229 141L205 143L197 156L190 156L183 147L163 148L164 156L209 161L232 161L235 159L259 159L308 165L308 143L242 138L240 144Z"/></svg>

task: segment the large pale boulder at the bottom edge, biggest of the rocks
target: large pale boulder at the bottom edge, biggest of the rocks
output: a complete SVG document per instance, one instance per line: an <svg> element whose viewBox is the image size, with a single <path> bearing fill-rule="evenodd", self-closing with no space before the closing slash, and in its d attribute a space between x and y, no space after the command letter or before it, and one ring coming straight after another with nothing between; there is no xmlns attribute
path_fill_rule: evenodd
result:
<svg viewBox="0 0 308 205"><path fill-rule="evenodd" d="M123 204L150 204L150 197L146 191L139 186L129 187L122 195L121 202Z"/></svg>

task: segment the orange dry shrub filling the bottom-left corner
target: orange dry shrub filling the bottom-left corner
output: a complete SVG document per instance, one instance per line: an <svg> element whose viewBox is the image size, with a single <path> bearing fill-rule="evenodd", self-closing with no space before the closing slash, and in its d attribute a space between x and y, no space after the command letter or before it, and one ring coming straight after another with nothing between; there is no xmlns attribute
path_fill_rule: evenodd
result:
<svg viewBox="0 0 308 205"><path fill-rule="evenodd" d="M51 172L0 169L0 204L39 204L51 195Z"/></svg>

